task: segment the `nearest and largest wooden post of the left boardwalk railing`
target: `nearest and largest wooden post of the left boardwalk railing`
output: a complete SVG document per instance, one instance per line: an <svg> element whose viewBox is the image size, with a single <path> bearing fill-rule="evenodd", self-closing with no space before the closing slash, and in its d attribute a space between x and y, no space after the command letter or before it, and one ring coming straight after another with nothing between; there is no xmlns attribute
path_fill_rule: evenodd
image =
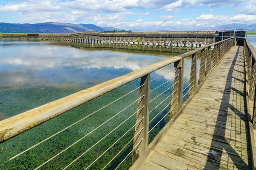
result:
<svg viewBox="0 0 256 170"><path fill-rule="evenodd" d="M149 122L149 88L150 88L150 74L140 78L140 93L137 107L137 118L134 138L134 146L136 146L142 139L142 142L136 148L133 148L132 152L132 163L134 163L143 153L145 148L148 146L148 122ZM141 120L142 119L142 120ZM140 123L138 122L140 121Z"/></svg>

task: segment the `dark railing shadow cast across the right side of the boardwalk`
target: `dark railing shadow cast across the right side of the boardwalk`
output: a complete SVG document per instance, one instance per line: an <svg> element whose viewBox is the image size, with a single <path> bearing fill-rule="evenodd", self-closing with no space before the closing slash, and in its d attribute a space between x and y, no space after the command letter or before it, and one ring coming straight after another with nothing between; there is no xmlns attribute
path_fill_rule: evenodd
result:
<svg viewBox="0 0 256 170"><path fill-rule="evenodd" d="M244 119L244 115L246 116L246 114L247 114L245 112L246 111L246 95L245 95L245 92L244 92L245 88L246 88L245 87L246 84L245 84L245 81L244 81L245 80L245 74L244 74L244 72L242 72L241 70L239 71L239 69L236 68L237 66L245 67L244 62L241 62L241 60L244 61L244 58L241 58L241 55L239 56L239 53L241 54L242 52L243 52L242 47L237 48L235 57L233 58L233 62L231 64L231 67L230 67L228 75L227 75L227 82L226 82L226 85L225 85L225 88L224 88L224 91L223 91L223 97L221 99L220 110L221 111L223 111L223 110L224 111L230 111L231 110L232 114L236 114L236 115L234 115L234 117L239 116L240 121L244 122L245 128L247 130L248 129L248 122L247 122L247 119ZM237 72L239 72L239 74L243 74L244 77L234 77L234 76L237 75L236 74ZM244 88L241 88L241 86L237 85L237 84L240 84L240 83L244 85ZM242 89L242 91L241 91L241 89ZM239 105L239 103L236 102L236 101L239 101L238 98L243 98L244 103L241 103ZM229 102L227 102L227 101L229 101ZM240 99L240 101L241 101L241 99ZM243 110L245 113L241 113L241 110ZM217 123L222 123L222 125L226 126L227 121L228 121L227 116L221 116L220 114L218 114L216 124ZM236 125L236 124L233 124L233 125L234 126L241 126L241 125ZM223 128L226 128L226 127L223 127ZM235 127L235 130L237 128L239 128L239 127ZM231 127L231 130L232 130L232 127ZM223 130L223 132L225 133L226 131ZM235 133L236 133L236 135L239 135L239 132L235 132ZM240 134L241 134L241 132L240 132ZM223 143L223 150L220 151L221 148L220 148L220 145L218 145L218 147L220 149L219 152L221 153L221 156L222 156L224 150L225 150L225 152L227 152L227 154L229 156L229 158L227 158L227 164L232 162L234 164L234 167L236 167L238 169L241 169L241 167L244 167L245 169L250 169L251 165L250 165L250 163L248 164L248 160L244 161L244 159L241 158L241 154L242 155L244 154L242 152L241 148L239 148L238 146L235 146L235 149L234 149L230 145L230 141L227 141L227 138L225 138L224 136L225 136L225 134L223 134L221 136L219 135L219 128L217 126L215 126L214 133L213 133L213 136L212 136L212 143L211 143L211 146L210 146L210 150L209 150L209 154L208 154L208 157L207 157L207 162L205 164L205 168L209 169L207 167L212 167L211 164L212 164L212 160L215 160L215 154L214 153L215 153L215 147L217 145L215 142L221 140L222 143ZM228 139L228 140L231 140L231 139ZM244 140L250 141L250 137L249 137L248 134L246 134L246 139L244 139ZM250 155L250 147L249 146L250 145L248 145L248 147L245 148L245 149L247 149L246 155ZM220 161L215 161L215 165L216 165L216 162L219 162L219 164L218 164L218 166L215 166L213 168L213 170L223 169L223 166L220 167L221 162ZM229 168L227 167L227 169L229 169Z"/></svg>

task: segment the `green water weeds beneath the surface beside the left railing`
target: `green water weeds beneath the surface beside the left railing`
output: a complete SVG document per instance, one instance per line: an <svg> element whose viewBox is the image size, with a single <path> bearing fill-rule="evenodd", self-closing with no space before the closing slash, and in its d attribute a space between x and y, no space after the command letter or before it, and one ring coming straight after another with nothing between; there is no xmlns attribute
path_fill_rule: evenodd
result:
<svg viewBox="0 0 256 170"><path fill-rule="evenodd" d="M151 89L157 87L158 85L165 82L166 79L160 79L151 84ZM172 85L173 82L166 83L161 86L161 88L157 88L155 91L151 93L151 99L156 97L159 93L161 93L164 89L167 89ZM111 101L123 96L129 91L137 88L139 86L139 80L129 83L128 85L122 86L114 91L111 91L108 94L100 96L96 99L93 99L90 102L85 103L84 105L79 106L67 113L58 116L55 119L52 119L48 122L45 122L38 127L35 127L19 136L16 136L10 139L7 142L0 144L0 148L2 148L2 153L0 156L0 169L12 170L28 170L34 169L40 164L44 163L52 156L55 156L61 150L64 150L66 147L70 146L77 140L81 139L83 136L88 134L90 131L94 130L96 127L101 125L103 122L110 119L119 111L122 111L125 107L130 105L138 98L138 90L133 93L125 96L121 100L113 103L110 107L104 108L103 110L95 113L94 115L88 117L87 119L79 122L77 125L70 127L64 132L58 134L57 136L52 137L46 142L38 145L37 147L29 150L27 153L8 161L12 156L26 150L27 148L33 146L34 144L42 141L43 139L51 136L52 134L58 132L59 130L64 129L65 127L73 124L74 122L82 119L84 116L87 116L90 113L102 108L107 105ZM40 105L43 105L47 102L56 100L63 96L67 96L76 91L74 90L62 90L55 89L49 87L37 87L30 88L30 91L24 89L19 90L10 90L0 92L1 99L7 99L3 103L1 107L1 112L7 116L14 116L22 111L26 111ZM169 94L172 93L172 88L170 88L167 93L164 93L157 99L155 99L151 105L150 109L154 108L158 103L163 101ZM12 99L11 99L12 98ZM15 99L15 104L13 104L13 99ZM159 107L154 109L150 114L150 120L159 113L166 105L169 104L171 97L169 100L163 102ZM12 101L12 102L11 102ZM80 156L84 151L89 149L93 144L98 142L102 137L108 134L111 130L113 130L116 126L120 125L125 119L131 116L133 113L136 113L137 102L128 107L124 112L120 113L113 120L109 121L104 126L95 130L93 133L88 135L86 138L81 140L81 142L77 143L66 152L62 153L56 159L53 159L48 164L46 164L42 169L52 169L57 170L60 168L64 168L71 161ZM150 129L165 115L169 112L170 106L168 106L156 119L154 119L150 124ZM99 119L100 118L100 119ZM131 117L127 122L125 122L121 127L116 129L111 135L102 140L99 144L93 147L90 151L88 151L81 159L72 164L69 169L85 169L89 166L95 159L97 159L108 147L110 147L120 136L122 136L128 129L130 129L136 119L136 114ZM166 119L163 119L157 127L152 130L150 133L150 142L153 140L154 136L158 133L158 131L168 122L168 116ZM134 136L134 129L132 129L124 138L122 138L118 143L116 143L108 152L104 154L98 161L96 161L89 169L101 169L103 168L108 161L110 161L113 156L115 156L122 147L127 144L132 137ZM132 149L132 142L128 144L127 147L114 159L111 164L108 165L106 169L111 170L115 168L122 159L125 158L126 155ZM6 162L6 163L3 163ZM128 169L131 166L131 156L128 157L126 161L122 163L119 169Z"/></svg>

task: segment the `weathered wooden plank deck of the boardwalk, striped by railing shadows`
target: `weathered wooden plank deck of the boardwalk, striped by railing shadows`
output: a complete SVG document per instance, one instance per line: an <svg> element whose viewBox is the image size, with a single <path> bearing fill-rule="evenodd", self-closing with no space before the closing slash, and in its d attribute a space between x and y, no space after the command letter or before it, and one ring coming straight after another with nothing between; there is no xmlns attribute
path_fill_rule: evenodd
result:
<svg viewBox="0 0 256 170"><path fill-rule="evenodd" d="M141 170L250 170L243 47L207 78Z"/></svg>

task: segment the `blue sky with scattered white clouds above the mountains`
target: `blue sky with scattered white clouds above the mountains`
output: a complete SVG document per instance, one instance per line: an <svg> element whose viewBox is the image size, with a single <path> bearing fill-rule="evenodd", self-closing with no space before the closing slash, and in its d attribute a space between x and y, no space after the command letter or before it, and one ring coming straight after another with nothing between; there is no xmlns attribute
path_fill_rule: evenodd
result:
<svg viewBox="0 0 256 170"><path fill-rule="evenodd" d="M126 30L200 30L256 23L256 0L0 0L0 23L91 23Z"/></svg>

